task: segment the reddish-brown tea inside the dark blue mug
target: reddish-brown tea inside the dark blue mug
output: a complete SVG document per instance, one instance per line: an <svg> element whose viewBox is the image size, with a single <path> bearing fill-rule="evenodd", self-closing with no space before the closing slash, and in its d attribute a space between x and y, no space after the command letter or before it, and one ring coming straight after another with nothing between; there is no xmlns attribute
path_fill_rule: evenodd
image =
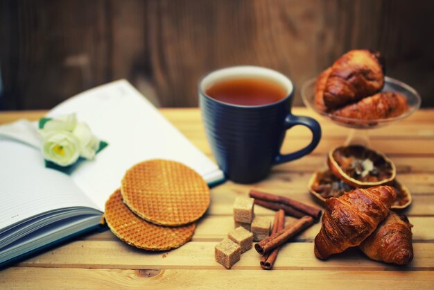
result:
<svg viewBox="0 0 434 290"><path fill-rule="evenodd" d="M284 99L288 92L279 83L266 78L234 78L214 83L205 93L217 101L234 105L266 105Z"/></svg>

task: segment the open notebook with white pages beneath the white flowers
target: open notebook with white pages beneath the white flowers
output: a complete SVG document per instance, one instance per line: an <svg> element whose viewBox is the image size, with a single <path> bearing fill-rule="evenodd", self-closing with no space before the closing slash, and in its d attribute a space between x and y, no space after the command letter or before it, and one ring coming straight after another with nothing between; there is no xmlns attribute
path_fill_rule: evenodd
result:
<svg viewBox="0 0 434 290"><path fill-rule="evenodd" d="M71 112L109 146L69 175L44 167L36 123L0 126L0 266L98 227L105 201L137 162L175 160L210 186L224 180L216 164L126 80L73 96L49 116Z"/></svg>

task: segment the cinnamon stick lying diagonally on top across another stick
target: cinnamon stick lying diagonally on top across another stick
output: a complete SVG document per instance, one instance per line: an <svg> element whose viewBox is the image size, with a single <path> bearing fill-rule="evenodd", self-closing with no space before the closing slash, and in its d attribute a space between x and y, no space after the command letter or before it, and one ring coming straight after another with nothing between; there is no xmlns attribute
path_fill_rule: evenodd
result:
<svg viewBox="0 0 434 290"><path fill-rule="evenodd" d="M284 244L289 239L292 239L296 234L302 232L302 230L309 228L314 222L315 221L311 216L303 216L302 219L299 219L295 223L291 223L286 226L286 228L279 230L267 239L263 239L259 243L255 244L254 248L259 254L269 253L271 250Z"/></svg>

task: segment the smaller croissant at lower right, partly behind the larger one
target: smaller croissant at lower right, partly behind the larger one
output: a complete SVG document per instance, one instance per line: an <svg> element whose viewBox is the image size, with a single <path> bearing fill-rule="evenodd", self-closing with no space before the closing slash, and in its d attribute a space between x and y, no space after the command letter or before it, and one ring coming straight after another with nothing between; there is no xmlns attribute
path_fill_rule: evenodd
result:
<svg viewBox="0 0 434 290"><path fill-rule="evenodd" d="M387 219L359 247L370 259L408 264L413 260L412 226L406 216L390 212Z"/></svg>

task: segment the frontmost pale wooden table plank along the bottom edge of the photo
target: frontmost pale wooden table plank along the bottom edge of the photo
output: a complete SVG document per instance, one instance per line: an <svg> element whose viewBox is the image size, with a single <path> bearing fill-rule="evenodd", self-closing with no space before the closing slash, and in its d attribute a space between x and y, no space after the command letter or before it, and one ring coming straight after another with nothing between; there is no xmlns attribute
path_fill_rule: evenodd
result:
<svg viewBox="0 0 434 290"><path fill-rule="evenodd" d="M347 279L342 279L345 277ZM168 269L10 268L0 273L6 289L433 289L431 271L279 271ZM270 287L272 281L272 287ZM375 286L373 285L375 284ZM410 286L411 285L411 286ZM241 288L240 288L241 289Z"/></svg>

